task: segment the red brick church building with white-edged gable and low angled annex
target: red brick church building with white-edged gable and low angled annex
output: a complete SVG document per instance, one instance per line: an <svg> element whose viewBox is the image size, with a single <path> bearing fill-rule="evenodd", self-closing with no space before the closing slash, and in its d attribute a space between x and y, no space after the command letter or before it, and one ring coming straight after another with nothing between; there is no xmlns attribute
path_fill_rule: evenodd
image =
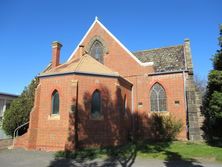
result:
<svg viewBox="0 0 222 167"><path fill-rule="evenodd" d="M64 64L59 42L40 73L27 133L15 146L38 150L107 146L133 132L149 138L153 113L183 123L179 139L200 139L199 99L190 41L129 51L97 18ZM137 115L135 118L134 115Z"/></svg>

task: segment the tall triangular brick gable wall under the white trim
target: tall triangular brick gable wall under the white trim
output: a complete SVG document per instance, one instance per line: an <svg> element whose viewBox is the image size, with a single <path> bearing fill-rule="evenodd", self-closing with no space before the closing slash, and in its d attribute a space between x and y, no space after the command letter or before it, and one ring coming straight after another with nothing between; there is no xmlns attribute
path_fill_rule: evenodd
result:
<svg viewBox="0 0 222 167"><path fill-rule="evenodd" d="M100 36L108 48L108 54L104 55L104 65L111 68L113 71L119 72L123 77L126 77L134 85L134 95L137 94L136 82L137 77L143 76L146 73L152 73L152 66L141 66L137 63L120 45L115 41L98 23L91 29L88 36L83 41L83 45L87 48L90 40L95 37ZM73 59L79 57L79 49L74 55ZM134 107L137 106L138 99L134 97ZM134 108L136 111L137 108Z"/></svg>

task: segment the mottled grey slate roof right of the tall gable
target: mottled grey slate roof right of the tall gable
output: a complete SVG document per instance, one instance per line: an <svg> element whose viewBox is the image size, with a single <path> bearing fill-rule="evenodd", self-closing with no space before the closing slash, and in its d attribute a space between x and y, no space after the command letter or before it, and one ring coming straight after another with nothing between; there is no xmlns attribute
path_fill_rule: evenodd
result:
<svg viewBox="0 0 222 167"><path fill-rule="evenodd" d="M133 52L141 62L154 62L155 72L169 72L185 69L184 46L170 46Z"/></svg>

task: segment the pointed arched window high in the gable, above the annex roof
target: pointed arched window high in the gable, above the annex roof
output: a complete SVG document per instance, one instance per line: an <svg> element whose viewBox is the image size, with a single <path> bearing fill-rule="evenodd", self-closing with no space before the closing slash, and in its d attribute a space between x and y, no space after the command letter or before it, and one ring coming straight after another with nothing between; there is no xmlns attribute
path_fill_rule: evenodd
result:
<svg viewBox="0 0 222 167"><path fill-rule="evenodd" d="M89 54L94 57L100 63L103 63L103 45L100 41L93 42Z"/></svg>

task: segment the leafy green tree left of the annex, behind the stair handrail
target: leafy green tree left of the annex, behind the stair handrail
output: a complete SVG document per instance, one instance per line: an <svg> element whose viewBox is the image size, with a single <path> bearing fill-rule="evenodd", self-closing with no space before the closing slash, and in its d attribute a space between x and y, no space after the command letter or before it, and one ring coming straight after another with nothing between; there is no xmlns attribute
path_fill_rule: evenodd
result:
<svg viewBox="0 0 222 167"><path fill-rule="evenodd" d="M18 126L29 121L29 113L34 104L35 88L38 82L38 78L33 79L28 87L25 87L22 94L12 101L9 109L5 111L2 127L6 134L13 136L13 132ZM26 131L27 127L24 127L19 133L23 134Z"/></svg>

